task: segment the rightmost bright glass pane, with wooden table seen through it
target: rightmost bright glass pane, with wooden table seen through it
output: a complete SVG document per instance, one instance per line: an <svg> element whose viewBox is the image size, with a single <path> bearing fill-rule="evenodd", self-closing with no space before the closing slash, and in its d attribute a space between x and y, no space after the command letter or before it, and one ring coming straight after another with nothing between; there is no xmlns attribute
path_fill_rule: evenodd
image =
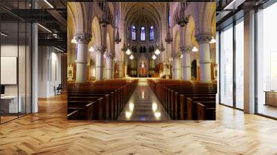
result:
<svg viewBox="0 0 277 155"><path fill-rule="evenodd" d="M257 12L257 112L277 118L277 3Z"/></svg>

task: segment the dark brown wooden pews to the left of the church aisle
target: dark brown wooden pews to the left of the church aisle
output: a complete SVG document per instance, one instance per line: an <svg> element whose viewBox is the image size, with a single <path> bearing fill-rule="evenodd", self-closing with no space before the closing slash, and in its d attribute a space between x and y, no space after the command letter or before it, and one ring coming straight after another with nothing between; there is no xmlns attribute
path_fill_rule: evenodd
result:
<svg viewBox="0 0 277 155"><path fill-rule="evenodd" d="M69 120L116 120L129 100L138 80L102 80L69 83Z"/></svg>

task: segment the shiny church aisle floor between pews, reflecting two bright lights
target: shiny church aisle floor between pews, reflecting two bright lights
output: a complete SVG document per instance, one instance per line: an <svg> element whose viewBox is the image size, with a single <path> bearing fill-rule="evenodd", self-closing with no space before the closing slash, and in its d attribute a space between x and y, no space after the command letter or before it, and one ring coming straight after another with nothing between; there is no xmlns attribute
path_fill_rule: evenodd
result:
<svg viewBox="0 0 277 155"><path fill-rule="evenodd" d="M146 80L140 80L118 120L171 120Z"/></svg>

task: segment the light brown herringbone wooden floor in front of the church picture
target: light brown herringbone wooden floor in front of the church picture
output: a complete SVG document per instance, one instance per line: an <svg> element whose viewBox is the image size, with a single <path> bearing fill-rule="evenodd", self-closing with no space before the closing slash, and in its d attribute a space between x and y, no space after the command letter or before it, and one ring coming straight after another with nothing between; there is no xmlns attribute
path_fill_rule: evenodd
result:
<svg viewBox="0 0 277 155"><path fill-rule="evenodd" d="M277 154L277 121L223 106L216 121L68 121L60 96L0 125L0 154Z"/></svg>

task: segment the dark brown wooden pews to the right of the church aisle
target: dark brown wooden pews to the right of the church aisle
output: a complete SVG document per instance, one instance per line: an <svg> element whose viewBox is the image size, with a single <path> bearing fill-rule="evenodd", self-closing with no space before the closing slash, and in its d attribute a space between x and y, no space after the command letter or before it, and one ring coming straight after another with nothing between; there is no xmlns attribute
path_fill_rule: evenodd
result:
<svg viewBox="0 0 277 155"><path fill-rule="evenodd" d="M148 80L172 120L215 120L217 84Z"/></svg>

